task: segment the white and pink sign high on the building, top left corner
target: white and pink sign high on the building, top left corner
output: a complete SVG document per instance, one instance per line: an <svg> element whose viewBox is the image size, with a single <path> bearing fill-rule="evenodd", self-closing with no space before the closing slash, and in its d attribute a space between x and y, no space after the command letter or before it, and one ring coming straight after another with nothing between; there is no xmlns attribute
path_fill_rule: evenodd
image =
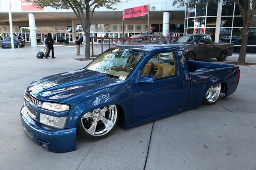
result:
<svg viewBox="0 0 256 170"><path fill-rule="evenodd" d="M9 0L2 0L3 11L9 11ZM33 4L22 0L11 0L12 11L44 11Z"/></svg>

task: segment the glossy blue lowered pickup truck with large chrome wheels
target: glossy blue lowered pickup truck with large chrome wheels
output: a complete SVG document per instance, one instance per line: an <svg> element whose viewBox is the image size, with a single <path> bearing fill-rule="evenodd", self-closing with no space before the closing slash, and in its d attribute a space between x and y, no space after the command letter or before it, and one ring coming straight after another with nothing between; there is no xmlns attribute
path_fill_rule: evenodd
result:
<svg viewBox="0 0 256 170"><path fill-rule="evenodd" d="M118 120L129 128L211 105L233 94L239 77L238 66L188 61L179 47L116 46L85 68L31 82L20 118L41 147L69 152L77 131L100 139Z"/></svg>

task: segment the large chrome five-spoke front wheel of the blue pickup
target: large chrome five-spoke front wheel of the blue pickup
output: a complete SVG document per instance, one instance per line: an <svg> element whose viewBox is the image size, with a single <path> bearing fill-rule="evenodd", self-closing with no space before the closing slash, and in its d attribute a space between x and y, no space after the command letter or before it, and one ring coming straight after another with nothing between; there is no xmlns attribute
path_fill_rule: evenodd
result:
<svg viewBox="0 0 256 170"><path fill-rule="evenodd" d="M119 119L116 105L109 105L87 112L81 118L78 130L89 139L101 139L111 133Z"/></svg>

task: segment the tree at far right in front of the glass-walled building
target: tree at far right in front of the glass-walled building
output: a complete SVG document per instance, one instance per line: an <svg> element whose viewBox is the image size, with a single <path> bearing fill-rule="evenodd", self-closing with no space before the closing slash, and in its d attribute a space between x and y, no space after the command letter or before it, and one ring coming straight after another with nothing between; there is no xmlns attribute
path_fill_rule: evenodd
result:
<svg viewBox="0 0 256 170"><path fill-rule="evenodd" d="M195 8L197 4L203 3L212 3L216 0L173 0L173 5L187 6L189 8ZM220 0L218 0L220 1ZM238 6L239 11L241 12L243 18L243 31L242 31L242 40L241 40L241 48L238 58L238 64L245 64L246 50L247 50L247 41L249 36L249 27L250 23L253 19L253 15L256 14L256 0L229 0L229 2L235 2L236 6ZM232 10L232 9L231 9Z"/></svg>

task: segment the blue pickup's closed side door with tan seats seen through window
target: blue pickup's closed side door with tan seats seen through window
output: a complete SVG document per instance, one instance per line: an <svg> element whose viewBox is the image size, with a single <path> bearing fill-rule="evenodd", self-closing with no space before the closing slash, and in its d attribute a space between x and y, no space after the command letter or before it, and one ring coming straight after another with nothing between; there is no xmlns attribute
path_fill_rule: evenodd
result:
<svg viewBox="0 0 256 170"><path fill-rule="evenodd" d="M140 78L154 82L132 80L132 124L177 113L185 107L175 51L154 54L142 68Z"/></svg>

